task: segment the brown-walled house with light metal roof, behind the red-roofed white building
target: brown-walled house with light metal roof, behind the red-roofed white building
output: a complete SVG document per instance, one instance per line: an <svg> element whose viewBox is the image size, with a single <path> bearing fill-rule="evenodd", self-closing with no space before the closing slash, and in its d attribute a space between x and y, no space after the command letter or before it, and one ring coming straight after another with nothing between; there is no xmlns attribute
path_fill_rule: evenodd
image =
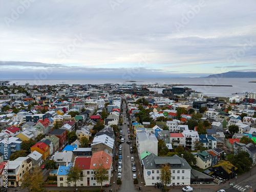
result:
<svg viewBox="0 0 256 192"><path fill-rule="evenodd" d="M91 144L93 154L104 151L106 154L113 156L115 140L108 135L95 136Z"/></svg>

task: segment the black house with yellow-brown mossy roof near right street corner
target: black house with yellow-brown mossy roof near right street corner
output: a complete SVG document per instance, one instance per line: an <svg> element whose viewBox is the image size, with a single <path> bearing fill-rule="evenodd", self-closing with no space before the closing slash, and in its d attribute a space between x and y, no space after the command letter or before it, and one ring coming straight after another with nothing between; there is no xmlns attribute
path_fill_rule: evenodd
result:
<svg viewBox="0 0 256 192"><path fill-rule="evenodd" d="M229 161L223 161L221 160L217 165L214 165L212 168L215 175L218 177L221 177L223 179L233 179L236 177L238 168L235 167L232 163Z"/></svg>

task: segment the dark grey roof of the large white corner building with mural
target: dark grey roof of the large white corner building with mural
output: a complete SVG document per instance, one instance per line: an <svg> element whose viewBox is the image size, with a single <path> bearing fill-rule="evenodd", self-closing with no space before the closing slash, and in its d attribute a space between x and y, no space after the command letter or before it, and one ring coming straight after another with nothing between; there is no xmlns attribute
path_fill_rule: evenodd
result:
<svg viewBox="0 0 256 192"><path fill-rule="evenodd" d="M143 160L143 164L145 166L145 169L159 169L159 166L161 164L179 164L180 169L191 169L190 165L187 163L187 161L177 155L173 157L158 157L155 154L150 154L147 157L145 157ZM157 166L159 165L159 166ZM172 169L175 167L172 167Z"/></svg>

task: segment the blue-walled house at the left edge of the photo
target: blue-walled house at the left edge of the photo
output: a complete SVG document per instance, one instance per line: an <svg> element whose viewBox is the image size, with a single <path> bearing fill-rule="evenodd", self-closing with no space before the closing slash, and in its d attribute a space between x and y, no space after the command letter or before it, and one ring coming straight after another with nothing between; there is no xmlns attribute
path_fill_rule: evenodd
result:
<svg viewBox="0 0 256 192"><path fill-rule="evenodd" d="M1 140L0 152L5 154L4 161L9 160L10 155L12 155L14 152L21 150L21 145L22 141L18 137L9 137L7 140ZM5 152L7 152L7 154Z"/></svg>

